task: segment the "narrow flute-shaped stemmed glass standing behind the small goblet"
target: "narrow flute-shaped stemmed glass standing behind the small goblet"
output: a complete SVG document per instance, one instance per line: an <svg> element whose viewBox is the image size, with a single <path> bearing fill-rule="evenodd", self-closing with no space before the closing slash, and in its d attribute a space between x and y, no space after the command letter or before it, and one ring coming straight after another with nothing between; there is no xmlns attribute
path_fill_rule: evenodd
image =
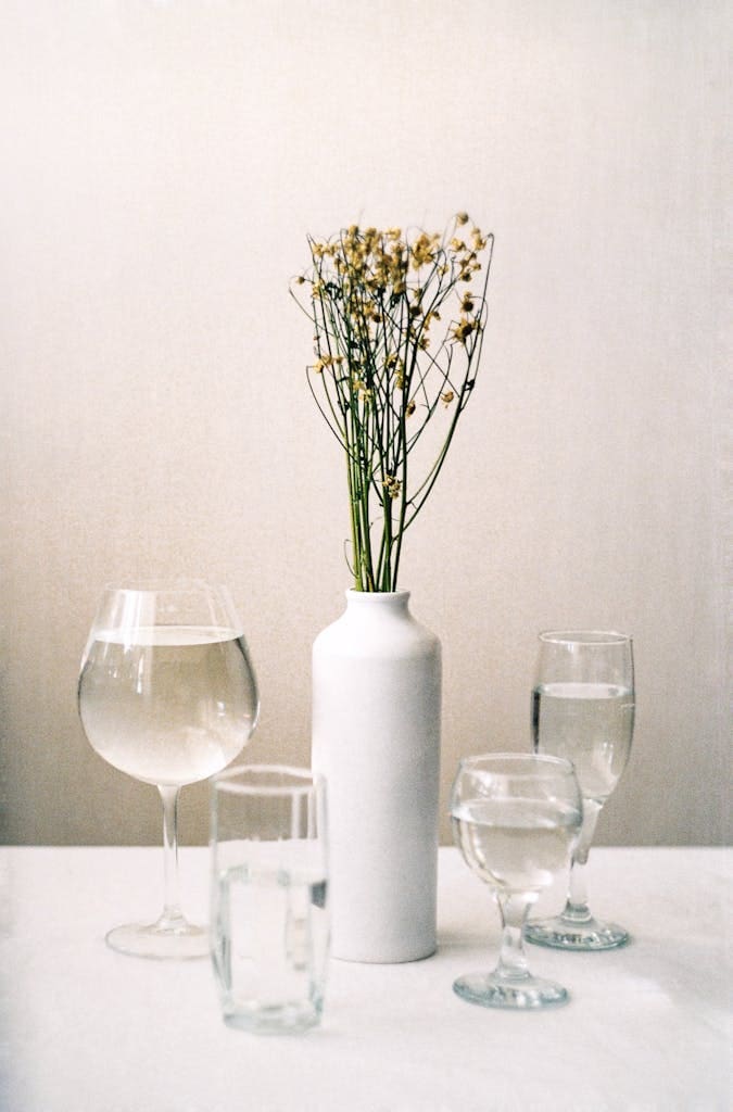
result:
<svg viewBox="0 0 733 1112"><path fill-rule="evenodd" d="M565 910L554 919L531 921L526 937L561 950L623 946L628 942L627 931L592 915L585 871L601 808L618 783L631 751L631 637L586 629L541 633L532 728L536 753L566 757L575 765L585 817Z"/></svg>

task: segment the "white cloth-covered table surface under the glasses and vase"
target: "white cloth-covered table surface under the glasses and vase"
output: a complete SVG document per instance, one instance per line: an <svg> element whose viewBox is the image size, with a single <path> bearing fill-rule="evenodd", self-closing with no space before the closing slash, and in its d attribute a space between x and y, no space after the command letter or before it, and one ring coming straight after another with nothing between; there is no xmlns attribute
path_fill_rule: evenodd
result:
<svg viewBox="0 0 733 1112"><path fill-rule="evenodd" d="M187 911L202 915L208 851L184 847ZM453 980L494 964L498 915L440 850L438 952L404 965L331 961L324 1024L263 1037L219 1017L207 960L112 953L106 931L155 917L161 851L0 850L8 1112L691 1112L733 1108L733 852L602 848L591 903L632 932L624 949L531 946L562 1009L477 1007ZM543 897L551 910L561 893Z"/></svg>

